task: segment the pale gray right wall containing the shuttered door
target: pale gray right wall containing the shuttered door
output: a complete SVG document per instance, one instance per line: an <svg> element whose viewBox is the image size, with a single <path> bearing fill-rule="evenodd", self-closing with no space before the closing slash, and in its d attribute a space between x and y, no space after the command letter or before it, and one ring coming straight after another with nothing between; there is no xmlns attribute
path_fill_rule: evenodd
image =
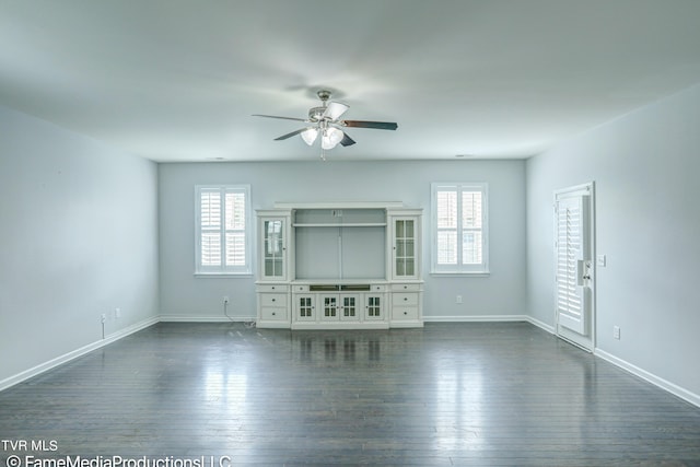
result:
<svg viewBox="0 0 700 467"><path fill-rule="evenodd" d="M608 261L596 271L596 347L695 395L699 128L696 85L527 162L530 315L553 324L552 191L595 180L597 253Z"/></svg>

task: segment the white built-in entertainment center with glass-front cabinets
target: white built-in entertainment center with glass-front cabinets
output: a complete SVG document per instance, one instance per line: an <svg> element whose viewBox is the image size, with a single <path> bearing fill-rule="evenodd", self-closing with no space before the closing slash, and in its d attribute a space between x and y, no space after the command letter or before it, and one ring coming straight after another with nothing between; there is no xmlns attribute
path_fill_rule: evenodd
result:
<svg viewBox="0 0 700 467"><path fill-rule="evenodd" d="M420 327L420 209L400 202L258 210L257 326Z"/></svg>

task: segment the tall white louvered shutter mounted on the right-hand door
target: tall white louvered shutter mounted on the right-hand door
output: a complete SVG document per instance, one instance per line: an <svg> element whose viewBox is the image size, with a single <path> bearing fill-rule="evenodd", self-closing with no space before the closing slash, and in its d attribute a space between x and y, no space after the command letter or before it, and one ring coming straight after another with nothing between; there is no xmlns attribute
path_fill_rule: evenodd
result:
<svg viewBox="0 0 700 467"><path fill-rule="evenodd" d="M583 229L587 215L583 196L557 201L557 313L559 324L585 334L584 267L587 245Z"/></svg>

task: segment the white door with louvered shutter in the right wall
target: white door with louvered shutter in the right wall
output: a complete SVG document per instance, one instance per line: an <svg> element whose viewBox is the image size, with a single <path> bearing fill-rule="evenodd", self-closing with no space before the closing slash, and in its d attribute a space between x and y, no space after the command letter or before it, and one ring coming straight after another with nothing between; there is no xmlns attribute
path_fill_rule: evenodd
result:
<svg viewBox="0 0 700 467"><path fill-rule="evenodd" d="M557 335L593 349L593 184L555 194Z"/></svg>

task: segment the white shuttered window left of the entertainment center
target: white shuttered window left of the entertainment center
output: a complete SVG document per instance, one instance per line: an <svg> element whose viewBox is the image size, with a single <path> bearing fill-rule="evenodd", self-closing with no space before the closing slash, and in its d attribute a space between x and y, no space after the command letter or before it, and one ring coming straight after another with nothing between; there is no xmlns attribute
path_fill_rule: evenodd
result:
<svg viewBox="0 0 700 467"><path fill-rule="evenodd" d="M249 275L250 187L200 185L196 191L196 273Z"/></svg>

